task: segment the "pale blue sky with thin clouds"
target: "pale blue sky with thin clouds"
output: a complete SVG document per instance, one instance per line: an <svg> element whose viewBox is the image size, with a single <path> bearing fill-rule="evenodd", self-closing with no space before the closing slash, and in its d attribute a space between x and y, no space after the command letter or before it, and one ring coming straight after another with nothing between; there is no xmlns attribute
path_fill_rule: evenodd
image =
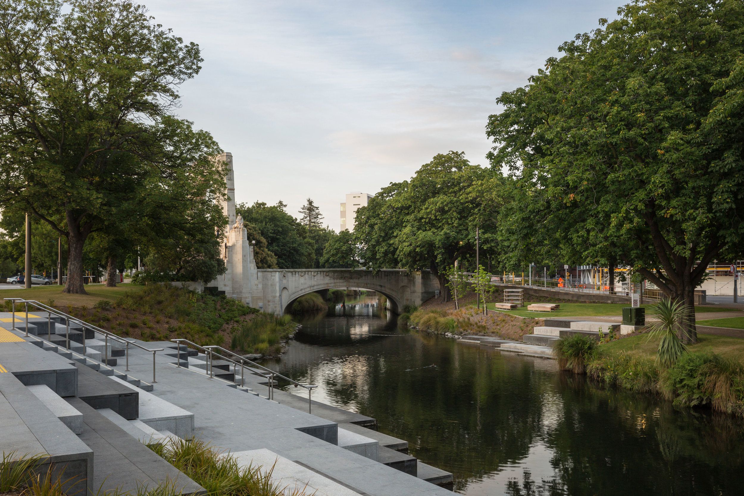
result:
<svg viewBox="0 0 744 496"><path fill-rule="evenodd" d="M414 175L437 153L487 165L503 91L619 0L142 0L202 51L179 117L234 160L237 202L339 204Z"/></svg>

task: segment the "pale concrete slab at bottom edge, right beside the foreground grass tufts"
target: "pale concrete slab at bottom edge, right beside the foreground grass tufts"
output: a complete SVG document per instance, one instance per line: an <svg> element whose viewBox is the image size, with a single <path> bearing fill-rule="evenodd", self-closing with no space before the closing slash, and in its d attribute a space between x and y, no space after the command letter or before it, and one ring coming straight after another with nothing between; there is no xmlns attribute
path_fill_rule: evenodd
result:
<svg viewBox="0 0 744 496"><path fill-rule="evenodd" d="M272 471L271 480L284 494L296 491L305 495L315 496L359 496L365 492L355 490L334 480L333 477L320 474L304 463L293 462L268 449L250 451L236 451L230 454L237 460L240 467L260 466L261 471Z"/></svg>

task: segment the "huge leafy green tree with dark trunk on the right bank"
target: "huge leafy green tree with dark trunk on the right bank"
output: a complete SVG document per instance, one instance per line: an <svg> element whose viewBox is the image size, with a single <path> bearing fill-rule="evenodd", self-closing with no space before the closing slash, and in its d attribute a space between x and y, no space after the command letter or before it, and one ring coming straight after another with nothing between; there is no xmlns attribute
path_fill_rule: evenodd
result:
<svg viewBox="0 0 744 496"><path fill-rule="evenodd" d="M516 175L533 229L693 309L708 263L744 249L744 4L634 1L618 15L501 94L490 160ZM693 319L680 337L696 341Z"/></svg>

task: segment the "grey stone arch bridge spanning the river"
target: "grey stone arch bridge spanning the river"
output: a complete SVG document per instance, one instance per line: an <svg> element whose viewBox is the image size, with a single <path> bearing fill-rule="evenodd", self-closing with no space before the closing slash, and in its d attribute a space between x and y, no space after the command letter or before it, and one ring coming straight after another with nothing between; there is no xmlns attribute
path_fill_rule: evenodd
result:
<svg viewBox="0 0 744 496"><path fill-rule="evenodd" d="M419 306L439 290L439 282L430 271L267 268L257 273L263 293L263 311L275 315L283 315L289 303L303 294L323 289L372 289L384 294L390 309L396 313L406 305Z"/></svg>

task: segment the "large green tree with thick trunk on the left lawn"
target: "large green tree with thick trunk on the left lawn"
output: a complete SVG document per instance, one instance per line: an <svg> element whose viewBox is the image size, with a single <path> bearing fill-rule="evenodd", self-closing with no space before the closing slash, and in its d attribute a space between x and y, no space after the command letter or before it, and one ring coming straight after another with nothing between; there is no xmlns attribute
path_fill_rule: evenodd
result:
<svg viewBox="0 0 744 496"><path fill-rule="evenodd" d="M224 177L217 144L171 115L199 48L129 0L1 0L0 27L0 202L68 239L65 292L84 293L86 239L133 193Z"/></svg>

